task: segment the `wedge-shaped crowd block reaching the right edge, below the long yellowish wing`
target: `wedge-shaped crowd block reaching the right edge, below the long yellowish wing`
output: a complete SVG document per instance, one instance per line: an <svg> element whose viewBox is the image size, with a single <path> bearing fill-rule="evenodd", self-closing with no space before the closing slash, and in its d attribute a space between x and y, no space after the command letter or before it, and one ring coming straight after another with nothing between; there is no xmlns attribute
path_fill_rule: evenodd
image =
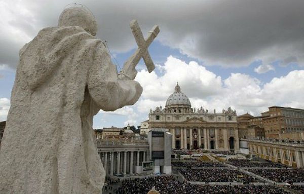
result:
<svg viewBox="0 0 304 194"><path fill-rule="evenodd" d="M248 171L275 182L304 182L304 169L248 169Z"/></svg>

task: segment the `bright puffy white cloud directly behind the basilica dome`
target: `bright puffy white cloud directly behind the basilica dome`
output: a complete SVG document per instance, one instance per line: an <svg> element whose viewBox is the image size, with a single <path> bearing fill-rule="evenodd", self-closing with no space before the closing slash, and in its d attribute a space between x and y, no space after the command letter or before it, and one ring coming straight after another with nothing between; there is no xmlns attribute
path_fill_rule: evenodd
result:
<svg viewBox="0 0 304 194"><path fill-rule="evenodd" d="M192 93L193 97L215 95L221 89L221 77L208 71L195 61L188 64L173 56L169 56L164 66L164 74L158 76L155 72L146 70L138 72L135 80L143 87L144 99L161 101L174 92L176 82L180 83L184 93Z"/></svg>

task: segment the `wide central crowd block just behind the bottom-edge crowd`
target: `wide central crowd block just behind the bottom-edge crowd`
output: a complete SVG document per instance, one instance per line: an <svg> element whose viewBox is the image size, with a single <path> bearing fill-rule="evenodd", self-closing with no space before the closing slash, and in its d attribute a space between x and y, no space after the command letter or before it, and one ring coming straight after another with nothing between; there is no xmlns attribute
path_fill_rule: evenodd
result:
<svg viewBox="0 0 304 194"><path fill-rule="evenodd" d="M235 169L178 169L182 176L188 181L199 182L259 182L258 179L243 174Z"/></svg>

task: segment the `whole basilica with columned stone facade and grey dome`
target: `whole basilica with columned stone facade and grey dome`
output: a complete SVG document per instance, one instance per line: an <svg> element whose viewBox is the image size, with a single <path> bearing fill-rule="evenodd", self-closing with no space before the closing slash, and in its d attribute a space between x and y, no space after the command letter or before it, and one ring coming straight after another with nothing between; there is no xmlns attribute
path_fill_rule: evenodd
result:
<svg viewBox="0 0 304 194"><path fill-rule="evenodd" d="M239 151L237 114L231 107L216 110L192 108L177 83L165 108L150 109L148 128L169 129L173 149L217 149Z"/></svg>

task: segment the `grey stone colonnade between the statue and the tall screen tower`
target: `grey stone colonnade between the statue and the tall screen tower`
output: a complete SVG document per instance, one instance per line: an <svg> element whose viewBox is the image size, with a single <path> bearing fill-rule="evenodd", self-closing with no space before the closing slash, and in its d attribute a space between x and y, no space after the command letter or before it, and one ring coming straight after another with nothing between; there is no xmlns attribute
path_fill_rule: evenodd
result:
<svg viewBox="0 0 304 194"><path fill-rule="evenodd" d="M147 150L99 152L106 176L133 174L142 171L142 162L148 161ZM134 168L135 167L135 168Z"/></svg>

